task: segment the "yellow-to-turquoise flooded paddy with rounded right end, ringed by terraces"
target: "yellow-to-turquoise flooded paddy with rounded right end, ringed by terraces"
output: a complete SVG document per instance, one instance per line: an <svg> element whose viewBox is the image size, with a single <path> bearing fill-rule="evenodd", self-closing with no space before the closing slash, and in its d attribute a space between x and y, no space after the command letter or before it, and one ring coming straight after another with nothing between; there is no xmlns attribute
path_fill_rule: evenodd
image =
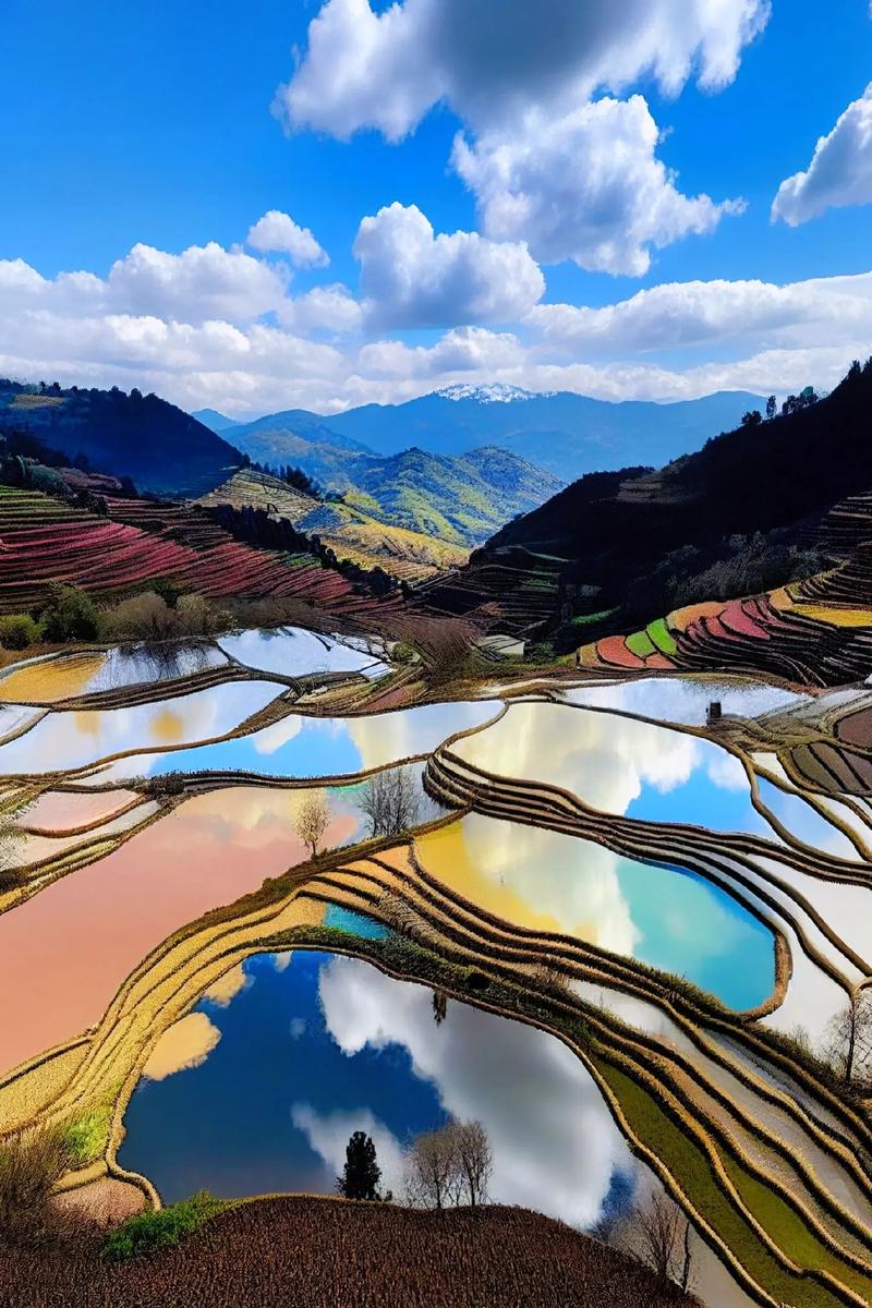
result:
<svg viewBox="0 0 872 1308"><path fill-rule="evenodd" d="M471 814L418 840L428 871L516 926L686 976L733 1008L774 986L771 933L718 886L587 840Z"/></svg>

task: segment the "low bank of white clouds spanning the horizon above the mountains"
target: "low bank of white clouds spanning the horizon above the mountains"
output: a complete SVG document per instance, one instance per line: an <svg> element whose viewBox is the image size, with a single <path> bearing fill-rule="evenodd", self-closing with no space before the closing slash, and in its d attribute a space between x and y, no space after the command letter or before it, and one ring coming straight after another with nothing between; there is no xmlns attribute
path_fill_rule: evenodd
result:
<svg viewBox="0 0 872 1308"><path fill-rule="evenodd" d="M407 216L400 207L400 217ZM446 306L468 243L448 237L446 254L421 215L412 216L412 225L424 226L428 237L422 258L425 266L430 260L430 309L439 298ZM501 249L477 241L488 258L493 247ZM201 262L192 262L200 269L199 289L187 302L166 277L161 283L150 276L146 296L139 275L103 279L77 271L48 279L21 259L0 260L0 374L56 378L64 386L137 386L188 409L208 404L243 417L293 407L331 413L354 404L399 403L458 382L673 400L716 390L783 394L809 382L833 386L852 358L868 354L872 336L872 273L784 286L673 283L596 309L536 303L539 276L531 276L532 294L522 297L516 286L501 289L495 276L482 284L471 275L469 285L458 290L459 326L418 344L380 327L373 297L366 311L341 285L292 297L281 277L272 280L268 263L242 255L247 262L241 266L235 251L222 254L226 262L214 260L220 275L212 286L203 281ZM505 246L490 267L503 255ZM176 272L180 284L197 280L184 255L150 262ZM252 273L248 263L267 277ZM537 273L532 260L520 266ZM411 267L377 279L388 320L407 313ZM463 324L464 315L488 302L490 311L509 313L511 297L523 318L509 330ZM154 307L135 309L143 300ZM252 320L258 305L275 307ZM183 313L186 320L178 317ZM696 349L699 361L664 364L664 353L676 349Z"/></svg>

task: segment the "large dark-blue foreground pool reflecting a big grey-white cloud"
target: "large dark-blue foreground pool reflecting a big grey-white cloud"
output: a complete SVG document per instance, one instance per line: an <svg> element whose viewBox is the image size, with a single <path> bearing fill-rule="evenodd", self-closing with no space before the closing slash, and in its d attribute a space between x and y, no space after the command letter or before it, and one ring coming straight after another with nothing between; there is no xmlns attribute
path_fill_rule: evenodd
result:
<svg viewBox="0 0 872 1308"><path fill-rule="evenodd" d="M197 1006L220 1032L199 1066L141 1082L127 1110L119 1162L165 1199L331 1193L353 1130L400 1196L403 1146L451 1117L485 1125L498 1202L591 1226L626 1193L626 1144L553 1037L452 1001L437 1027L428 989L356 959L298 952L246 971L229 1005Z"/></svg>

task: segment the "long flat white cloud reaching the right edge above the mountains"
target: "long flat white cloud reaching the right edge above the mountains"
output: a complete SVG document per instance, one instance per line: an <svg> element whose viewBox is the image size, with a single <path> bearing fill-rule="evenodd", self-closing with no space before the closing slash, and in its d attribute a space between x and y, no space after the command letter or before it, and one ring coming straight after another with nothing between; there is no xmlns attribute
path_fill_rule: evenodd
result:
<svg viewBox="0 0 872 1308"><path fill-rule="evenodd" d="M766 281L679 281L601 309L537 305L526 319L544 339L586 356L743 341L813 345L872 337L872 273ZM780 387L777 387L780 390Z"/></svg>

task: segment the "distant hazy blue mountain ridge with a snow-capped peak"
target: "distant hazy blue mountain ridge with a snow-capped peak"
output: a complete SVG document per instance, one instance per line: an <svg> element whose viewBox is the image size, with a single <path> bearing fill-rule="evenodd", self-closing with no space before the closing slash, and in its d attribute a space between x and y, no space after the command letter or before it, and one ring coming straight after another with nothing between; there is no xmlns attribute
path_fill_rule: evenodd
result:
<svg viewBox="0 0 872 1308"><path fill-rule="evenodd" d="M442 456L495 446L561 481L574 481L586 472L628 464L659 467L731 430L746 409L762 405L761 396L748 391L655 404L612 403L570 391L533 394L505 383L458 383L404 404L365 404L326 416L288 409L231 430L248 453L246 442L255 436L261 451L269 443L273 460L290 456L293 438L328 449L348 449L344 442L350 439L379 455L413 446Z"/></svg>

